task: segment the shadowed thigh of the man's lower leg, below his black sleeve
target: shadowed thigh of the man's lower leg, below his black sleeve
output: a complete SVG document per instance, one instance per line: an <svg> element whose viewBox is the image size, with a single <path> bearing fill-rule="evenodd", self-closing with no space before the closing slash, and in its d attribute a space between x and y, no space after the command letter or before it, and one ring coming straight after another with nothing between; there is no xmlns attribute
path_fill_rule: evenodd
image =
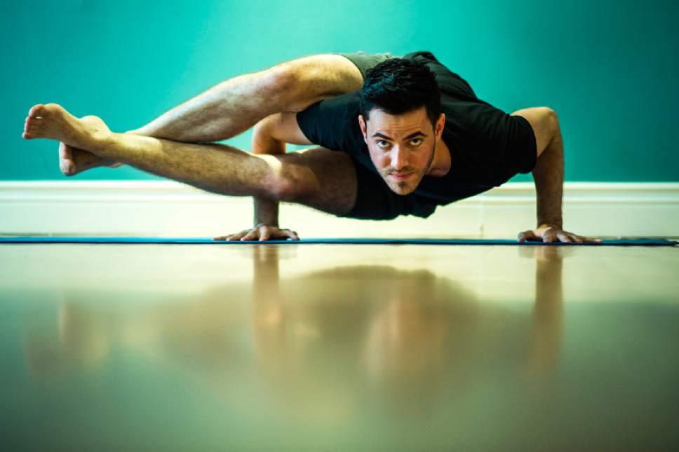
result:
<svg viewBox="0 0 679 452"><path fill-rule="evenodd" d="M314 147L276 156L287 195L281 200L342 216L356 203L356 166L344 152Z"/></svg>

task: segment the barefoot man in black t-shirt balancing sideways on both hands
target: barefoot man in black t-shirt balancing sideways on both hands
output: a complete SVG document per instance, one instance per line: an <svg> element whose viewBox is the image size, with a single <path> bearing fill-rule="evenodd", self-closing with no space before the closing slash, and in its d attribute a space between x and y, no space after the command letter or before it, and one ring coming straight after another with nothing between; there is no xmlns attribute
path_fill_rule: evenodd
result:
<svg viewBox="0 0 679 452"><path fill-rule="evenodd" d="M253 125L252 154L210 143ZM537 228L518 240L596 240L563 231L563 144L553 110L507 115L429 52L285 62L231 78L125 134L96 116L37 104L23 136L60 141L65 174L126 163L206 191L253 196L255 227L222 239L298 239L278 228L281 200L338 217L429 217L437 205L532 171ZM323 147L286 154L285 143Z"/></svg>

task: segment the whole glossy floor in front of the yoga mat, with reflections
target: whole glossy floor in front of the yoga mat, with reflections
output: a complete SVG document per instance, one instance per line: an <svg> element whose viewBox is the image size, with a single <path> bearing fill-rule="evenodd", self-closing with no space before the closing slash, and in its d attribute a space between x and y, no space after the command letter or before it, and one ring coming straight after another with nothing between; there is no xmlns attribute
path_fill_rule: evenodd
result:
<svg viewBox="0 0 679 452"><path fill-rule="evenodd" d="M4 245L4 446L669 450L679 248Z"/></svg>

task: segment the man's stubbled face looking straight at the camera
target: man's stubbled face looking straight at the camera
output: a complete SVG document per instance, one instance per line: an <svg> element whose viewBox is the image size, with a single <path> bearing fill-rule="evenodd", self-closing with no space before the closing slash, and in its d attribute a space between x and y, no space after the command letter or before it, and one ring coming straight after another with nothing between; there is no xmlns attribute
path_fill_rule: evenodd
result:
<svg viewBox="0 0 679 452"><path fill-rule="evenodd" d="M398 195L415 191L429 172L436 148L437 134L426 109L420 107L398 115L372 109L368 122L358 115L358 123L372 163L389 189ZM438 123L443 131L443 117Z"/></svg>

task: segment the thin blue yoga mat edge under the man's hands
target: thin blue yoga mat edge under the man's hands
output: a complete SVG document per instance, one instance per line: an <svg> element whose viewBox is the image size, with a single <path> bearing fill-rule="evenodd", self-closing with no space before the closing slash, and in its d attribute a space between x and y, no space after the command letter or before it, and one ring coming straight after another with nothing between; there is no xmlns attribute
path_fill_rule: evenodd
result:
<svg viewBox="0 0 679 452"><path fill-rule="evenodd" d="M346 244L346 245L568 245L568 246L674 246L679 242L664 238L619 238L599 243L561 242L518 242L507 239L437 239L437 238L307 238L302 240L267 240L265 242L227 242L211 238L158 238L158 237L0 237L0 244L6 243L124 243L124 244L189 244L208 243L211 245L266 245L271 243L304 244Z"/></svg>

